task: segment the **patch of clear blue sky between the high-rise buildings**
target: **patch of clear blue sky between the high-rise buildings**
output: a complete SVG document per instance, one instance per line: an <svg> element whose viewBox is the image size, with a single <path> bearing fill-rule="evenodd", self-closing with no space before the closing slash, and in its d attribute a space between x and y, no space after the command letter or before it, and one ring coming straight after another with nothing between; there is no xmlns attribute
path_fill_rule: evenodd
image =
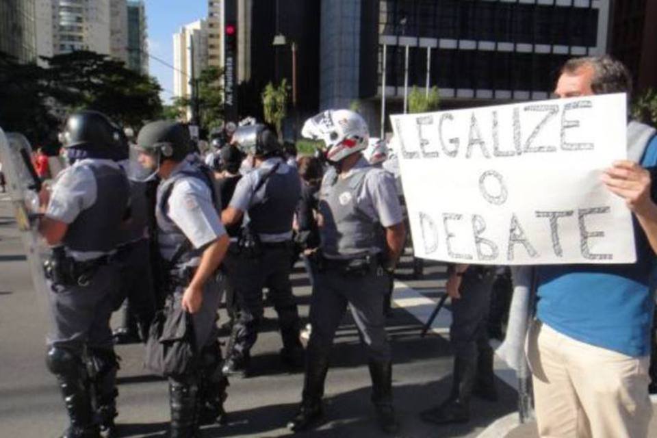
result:
<svg viewBox="0 0 657 438"><path fill-rule="evenodd" d="M153 59L157 57L173 65L173 34L181 26L207 16L206 0L146 0L146 24L148 31L149 73L164 88L160 94L163 103L173 96L173 69Z"/></svg>

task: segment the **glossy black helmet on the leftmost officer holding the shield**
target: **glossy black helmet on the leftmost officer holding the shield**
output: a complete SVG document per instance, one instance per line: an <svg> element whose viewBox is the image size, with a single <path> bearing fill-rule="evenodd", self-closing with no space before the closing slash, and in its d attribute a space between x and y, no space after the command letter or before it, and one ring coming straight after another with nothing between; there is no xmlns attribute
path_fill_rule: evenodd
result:
<svg viewBox="0 0 657 438"><path fill-rule="evenodd" d="M97 111L78 111L66 119L62 143L65 148L115 149L123 148L125 133L105 114Z"/></svg>

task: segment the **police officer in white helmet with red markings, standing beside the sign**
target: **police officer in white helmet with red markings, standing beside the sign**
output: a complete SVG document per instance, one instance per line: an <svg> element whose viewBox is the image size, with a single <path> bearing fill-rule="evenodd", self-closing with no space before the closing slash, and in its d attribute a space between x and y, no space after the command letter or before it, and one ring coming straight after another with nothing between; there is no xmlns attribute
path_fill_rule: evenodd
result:
<svg viewBox="0 0 657 438"><path fill-rule="evenodd" d="M302 402L287 424L304 430L322 416L324 379L335 330L349 307L368 352L372 402L386 433L398 422L392 405L390 346L383 299L404 244L394 178L373 168L361 151L368 127L350 110L329 110L307 121L304 136L322 138L333 163L320 188L320 250L313 285Z"/></svg>

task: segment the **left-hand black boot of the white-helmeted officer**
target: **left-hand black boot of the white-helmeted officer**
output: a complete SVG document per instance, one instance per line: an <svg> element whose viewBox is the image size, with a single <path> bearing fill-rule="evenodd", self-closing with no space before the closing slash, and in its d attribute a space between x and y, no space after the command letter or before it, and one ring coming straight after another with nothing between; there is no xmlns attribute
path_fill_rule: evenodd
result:
<svg viewBox="0 0 657 438"><path fill-rule="evenodd" d="M293 432L306 430L322 418L322 396L324 396L324 381L328 371L328 355L307 352L302 400L296 415L287 423L289 430Z"/></svg>

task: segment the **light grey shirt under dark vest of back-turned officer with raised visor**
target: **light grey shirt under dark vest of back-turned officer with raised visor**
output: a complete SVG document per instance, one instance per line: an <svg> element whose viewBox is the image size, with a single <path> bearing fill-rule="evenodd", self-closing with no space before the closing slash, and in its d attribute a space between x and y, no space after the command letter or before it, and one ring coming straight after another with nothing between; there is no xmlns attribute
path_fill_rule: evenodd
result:
<svg viewBox="0 0 657 438"><path fill-rule="evenodd" d="M276 169L276 173L285 175L287 172L292 171L292 169L287 166L287 164L285 164L281 157L272 157L266 159L258 169L268 170L276 166L276 163L279 162L281 164L279 165L279 168ZM246 175L244 175L244 177L242 177L242 179L240 179L240 182L237 183L237 187L235 187L235 193L233 193L233 198L231 198L229 206L240 211L244 211L246 220L248 220L248 209L264 201L266 184L263 184L257 193L253 192L255 187L260 182L260 178L261 172L248 172ZM287 231L286 233L279 234L260 233L259 237L261 242L285 242L286 240L292 239L292 231Z"/></svg>

